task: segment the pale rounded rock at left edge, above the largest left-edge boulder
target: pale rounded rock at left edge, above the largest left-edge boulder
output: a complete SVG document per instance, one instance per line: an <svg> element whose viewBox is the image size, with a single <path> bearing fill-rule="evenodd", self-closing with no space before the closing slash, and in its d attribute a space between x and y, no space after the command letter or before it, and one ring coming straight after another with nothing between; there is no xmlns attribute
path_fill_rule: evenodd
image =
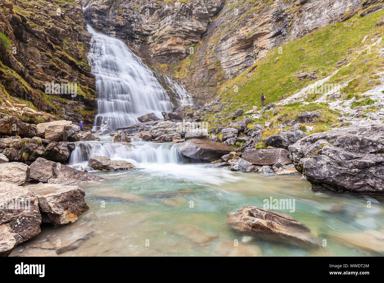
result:
<svg viewBox="0 0 384 283"><path fill-rule="evenodd" d="M0 164L0 182L22 185L30 177L30 167L21 162Z"/></svg>

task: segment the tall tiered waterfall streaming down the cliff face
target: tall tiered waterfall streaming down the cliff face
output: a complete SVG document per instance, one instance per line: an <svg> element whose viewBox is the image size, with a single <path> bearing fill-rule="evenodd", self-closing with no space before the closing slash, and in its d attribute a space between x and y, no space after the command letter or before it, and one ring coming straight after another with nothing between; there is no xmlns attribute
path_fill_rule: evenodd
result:
<svg viewBox="0 0 384 283"><path fill-rule="evenodd" d="M162 111L173 107L154 73L122 40L98 33L90 25L87 28L93 35L88 61L98 93L94 131L100 129L104 119L111 129L117 129L139 122L137 117L147 113L154 112L161 118ZM192 103L184 88L167 79L179 106Z"/></svg>

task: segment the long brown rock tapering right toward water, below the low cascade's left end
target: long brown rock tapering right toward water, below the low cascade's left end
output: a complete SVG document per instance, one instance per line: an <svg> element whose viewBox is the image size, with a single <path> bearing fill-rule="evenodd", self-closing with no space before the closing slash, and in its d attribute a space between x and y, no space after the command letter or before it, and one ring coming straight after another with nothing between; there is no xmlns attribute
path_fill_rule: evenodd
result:
<svg viewBox="0 0 384 283"><path fill-rule="evenodd" d="M49 161L41 157L31 164L30 170L30 178L43 183L47 183L51 178L68 178L78 181L98 181L102 179L99 176L76 170L70 166Z"/></svg>

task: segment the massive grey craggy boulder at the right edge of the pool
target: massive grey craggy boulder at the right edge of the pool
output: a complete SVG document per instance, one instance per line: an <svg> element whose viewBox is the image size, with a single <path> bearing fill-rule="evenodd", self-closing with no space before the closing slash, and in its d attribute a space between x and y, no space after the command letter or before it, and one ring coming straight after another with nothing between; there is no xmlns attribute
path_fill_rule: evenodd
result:
<svg viewBox="0 0 384 283"><path fill-rule="evenodd" d="M384 192L384 125L312 134L288 147L313 191Z"/></svg>

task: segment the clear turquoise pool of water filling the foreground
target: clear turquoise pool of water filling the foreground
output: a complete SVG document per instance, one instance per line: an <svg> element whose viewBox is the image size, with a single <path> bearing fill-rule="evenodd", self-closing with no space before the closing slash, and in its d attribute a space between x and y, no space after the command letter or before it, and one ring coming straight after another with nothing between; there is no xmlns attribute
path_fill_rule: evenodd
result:
<svg viewBox="0 0 384 283"><path fill-rule="evenodd" d="M174 163L96 174L105 180L81 186L88 212L73 224L44 227L12 255L378 255L369 248L347 245L342 239L344 234L356 240L359 236L354 233L382 230L382 204L348 194L315 194L301 174L265 177L210 164ZM295 212L280 212L301 221L320 241L326 239L326 246L305 249L260 240L243 236L225 224L227 213L243 206L263 207L263 200L270 197L295 199ZM371 208L367 208L367 200L372 202ZM59 247L57 240L61 241ZM233 246L236 240L238 247Z"/></svg>

